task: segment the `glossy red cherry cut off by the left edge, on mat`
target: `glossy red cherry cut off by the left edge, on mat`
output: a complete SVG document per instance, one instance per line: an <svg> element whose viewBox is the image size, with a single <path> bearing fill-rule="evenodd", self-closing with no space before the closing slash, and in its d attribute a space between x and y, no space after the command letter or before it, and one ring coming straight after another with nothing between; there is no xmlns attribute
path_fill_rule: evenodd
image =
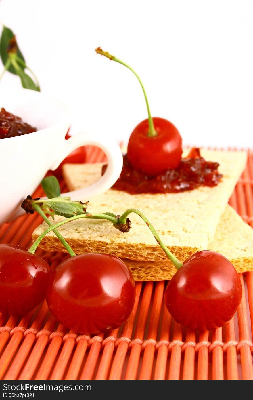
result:
<svg viewBox="0 0 253 400"><path fill-rule="evenodd" d="M46 296L51 269L25 248L0 244L0 311L23 316Z"/></svg>

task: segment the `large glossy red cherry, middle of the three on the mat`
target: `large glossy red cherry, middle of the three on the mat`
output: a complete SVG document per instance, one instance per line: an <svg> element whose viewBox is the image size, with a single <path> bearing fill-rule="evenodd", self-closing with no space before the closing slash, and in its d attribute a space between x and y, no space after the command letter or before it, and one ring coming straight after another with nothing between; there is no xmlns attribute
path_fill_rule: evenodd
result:
<svg viewBox="0 0 253 400"><path fill-rule="evenodd" d="M135 284L118 257L87 253L68 258L53 272L46 300L55 318L82 334L118 328L129 317Z"/></svg>

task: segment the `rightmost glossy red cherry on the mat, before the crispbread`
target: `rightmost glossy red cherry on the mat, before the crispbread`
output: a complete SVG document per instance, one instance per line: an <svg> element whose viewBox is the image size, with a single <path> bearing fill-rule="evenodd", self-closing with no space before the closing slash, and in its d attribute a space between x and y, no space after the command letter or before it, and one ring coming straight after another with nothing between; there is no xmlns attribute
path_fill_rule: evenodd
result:
<svg viewBox="0 0 253 400"><path fill-rule="evenodd" d="M241 280L233 264L217 252L203 250L185 260L169 281L164 301L175 321L203 331L225 325L241 297Z"/></svg>

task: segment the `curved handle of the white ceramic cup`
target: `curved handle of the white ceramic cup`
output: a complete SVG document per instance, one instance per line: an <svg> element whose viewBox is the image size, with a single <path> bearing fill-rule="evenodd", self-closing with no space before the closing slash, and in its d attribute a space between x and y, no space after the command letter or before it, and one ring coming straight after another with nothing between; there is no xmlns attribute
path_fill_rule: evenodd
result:
<svg viewBox="0 0 253 400"><path fill-rule="evenodd" d="M87 188L64 193L64 196L69 196L72 200L76 201L87 201L92 196L106 192L106 190L110 189L120 176L123 166L122 151L116 140L108 136L104 138L98 134L96 135L90 132L80 132L74 136L71 136L68 140L65 140L64 147L60 154L58 154L57 160L51 166L51 170L55 170L60 165L62 160L64 160L64 158L73 150L86 145L100 147L107 156L108 166L104 175L94 184L88 186Z"/></svg>

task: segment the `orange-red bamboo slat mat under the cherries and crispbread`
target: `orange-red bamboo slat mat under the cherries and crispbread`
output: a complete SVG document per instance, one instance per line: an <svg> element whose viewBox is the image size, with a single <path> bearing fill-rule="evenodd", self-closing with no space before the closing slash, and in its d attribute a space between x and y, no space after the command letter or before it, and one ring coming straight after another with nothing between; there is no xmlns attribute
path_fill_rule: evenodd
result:
<svg viewBox="0 0 253 400"><path fill-rule="evenodd" d="M104 154L88 147L88 162ZM61 182L62 191L67 191ZM35 193L43 196L41 188ZM229 204L253 227L253 151ZM113 211L113 210L112 210ZM29 247L42 218L0 226L0 242ZM56 266L66 255L45 253ZM131 316L117 330L78 335L58 324L46 302L22 319L0 314L1 380L251 380L253 272L241 274L243 298L223 328L201 334L175 323L163 304L166 282L137 282Z"/></svg>

